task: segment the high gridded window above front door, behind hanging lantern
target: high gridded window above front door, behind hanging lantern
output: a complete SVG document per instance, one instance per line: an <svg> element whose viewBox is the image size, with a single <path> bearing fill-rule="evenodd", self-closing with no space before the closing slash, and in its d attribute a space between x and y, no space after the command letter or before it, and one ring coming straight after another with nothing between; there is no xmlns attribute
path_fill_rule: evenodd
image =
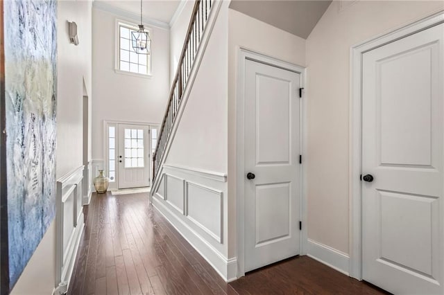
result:
<svg viewBox="0 0 444 295"><path fill-rule="evenodd" d="M117 64L116 69L141 75L151 74L151 54L137 54L131 46L132 33L137 32L134 24L117 21Z"/></svg>

